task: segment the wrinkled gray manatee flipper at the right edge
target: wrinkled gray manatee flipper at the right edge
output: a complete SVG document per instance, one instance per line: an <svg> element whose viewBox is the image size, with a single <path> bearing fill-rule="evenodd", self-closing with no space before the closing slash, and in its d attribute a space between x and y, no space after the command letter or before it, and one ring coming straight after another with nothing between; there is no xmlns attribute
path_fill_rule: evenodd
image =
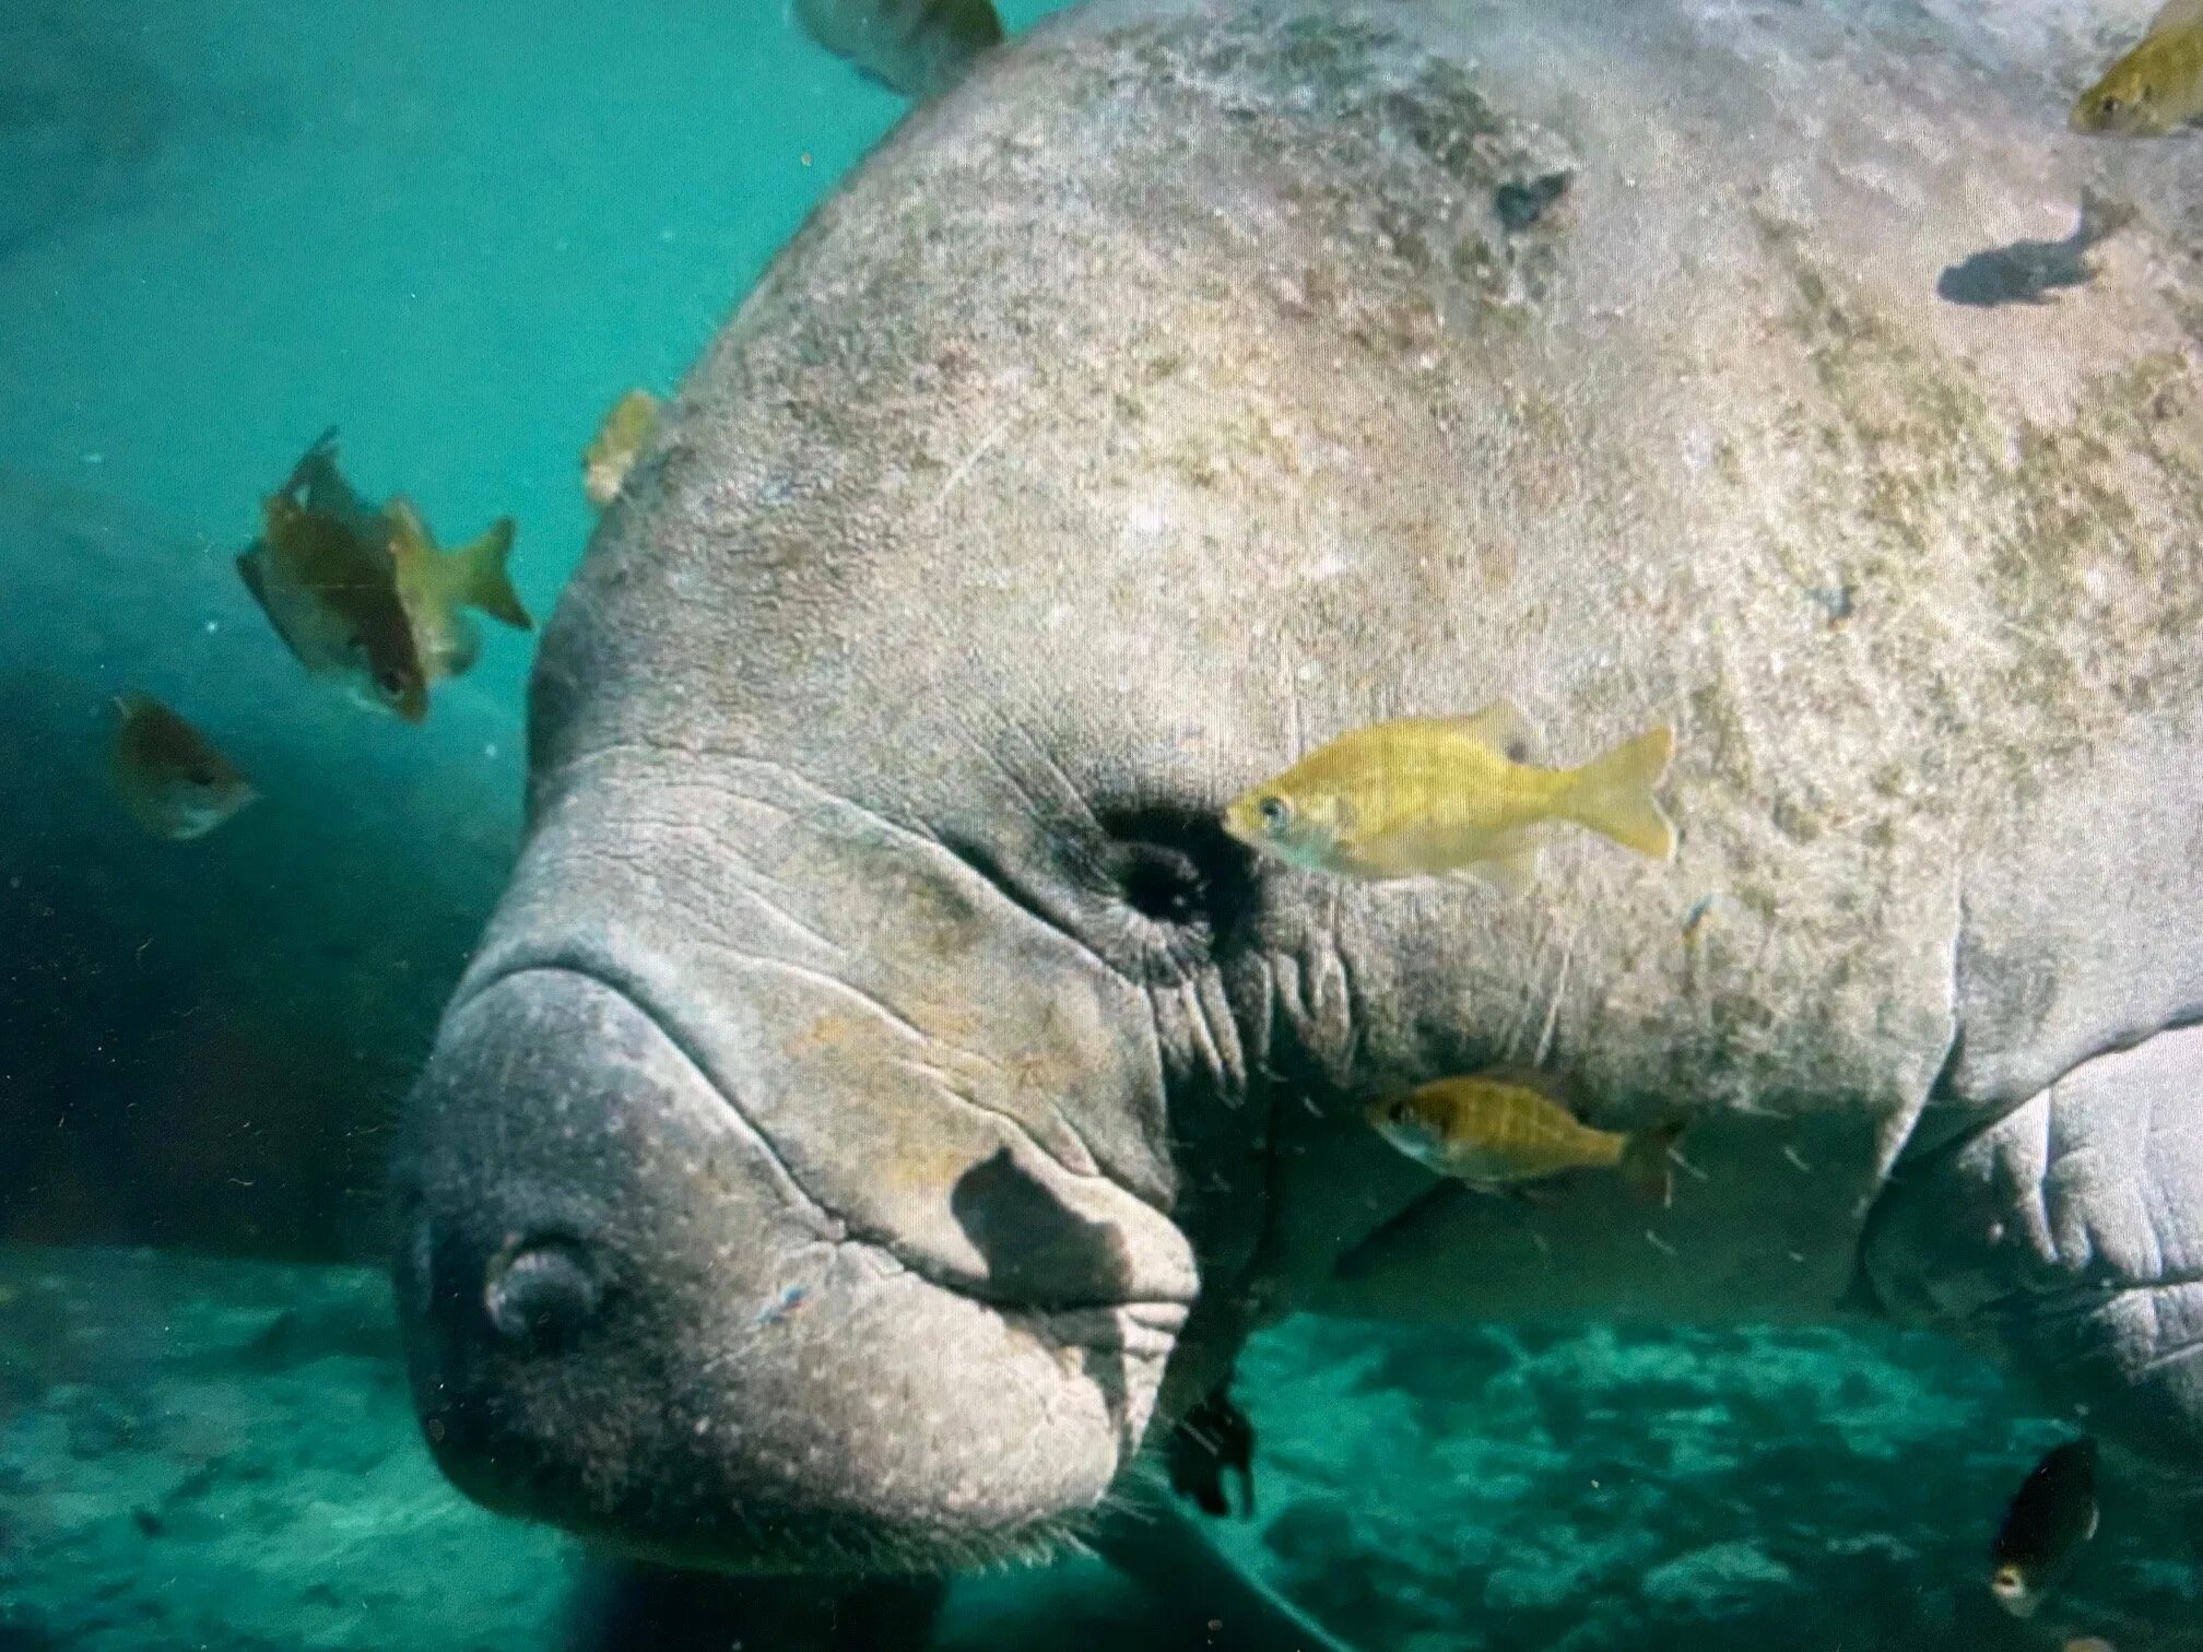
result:
<svg viewBox="0 0 2203 1652"><path fill-rule="evenodd" d="M2003 1355L2203 1544L2203 1026L2093 1055L1897 1165L1866 1278Z"/></svg>

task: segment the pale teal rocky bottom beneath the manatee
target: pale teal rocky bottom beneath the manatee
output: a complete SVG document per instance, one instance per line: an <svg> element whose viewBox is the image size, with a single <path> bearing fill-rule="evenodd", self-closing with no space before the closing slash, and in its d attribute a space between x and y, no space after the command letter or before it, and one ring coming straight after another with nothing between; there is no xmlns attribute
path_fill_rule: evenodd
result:
<svg viewBox="0 0 2203 1652"><path fill-rule="evenodd" d="M2020 1623L1983 1551L2073 1427L1934 1339L1291 1324L1242 1366L1218 1542L1364 1652L2203 1648L2177 1537L2106 1498ZM0 1652L555 1648L577 1559L452 1493L386 1284L0 1249ZM1090 1562L965 1586L954 1652L1117 1634Z"/></svg>

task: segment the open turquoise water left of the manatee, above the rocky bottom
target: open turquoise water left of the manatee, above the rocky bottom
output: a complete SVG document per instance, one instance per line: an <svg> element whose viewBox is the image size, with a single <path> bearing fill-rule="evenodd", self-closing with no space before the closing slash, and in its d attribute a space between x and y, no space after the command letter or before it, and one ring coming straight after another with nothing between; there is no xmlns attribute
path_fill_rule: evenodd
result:
<svg viewBox="0 0 2203 1652"><path fill-rule="evenodd" d="M361 718L231 557L337 425L447 544L516 515L546 617L604 410L672 390L901 110L723 0L0 11L0 932L31 960L0 1231L379 1242L379 1132L511 859L531 643L487 628L427 727ZM264 802L139 839L101 767L132 689Z"/></svg>

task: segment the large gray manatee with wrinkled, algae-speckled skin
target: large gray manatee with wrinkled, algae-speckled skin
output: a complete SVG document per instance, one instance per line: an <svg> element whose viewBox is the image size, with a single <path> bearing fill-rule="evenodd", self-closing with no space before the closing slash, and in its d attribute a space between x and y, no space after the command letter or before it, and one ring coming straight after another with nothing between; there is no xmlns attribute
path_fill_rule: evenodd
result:
<svg viewBox="0 0 2203 1652"><path fill-rule="evenodd" d="M736 1573L1110 1542L1317 1308L1895 1315L2203 1489L2196 185L1939 300L2110 154L1945 11L1088 7L916 110L544 639L399 1163L452 1478ZM1502 694L1672 720L1676 861L1214 826ZM1359 1119L1500 1059L1699 1174L1494 1200Z"/></svg>

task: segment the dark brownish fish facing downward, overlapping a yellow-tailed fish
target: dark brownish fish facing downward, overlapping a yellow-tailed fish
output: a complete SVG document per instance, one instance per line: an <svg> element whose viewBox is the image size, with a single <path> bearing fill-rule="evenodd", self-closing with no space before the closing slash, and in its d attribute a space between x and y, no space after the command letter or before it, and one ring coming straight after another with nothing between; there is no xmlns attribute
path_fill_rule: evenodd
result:
<svg viewBox="0 0 2203 1652"><path fill-rule="evenodd" d="M427 672L388 546L289 491L271 493L238 575L311 676L408 722L427 716Z"/></svg>

